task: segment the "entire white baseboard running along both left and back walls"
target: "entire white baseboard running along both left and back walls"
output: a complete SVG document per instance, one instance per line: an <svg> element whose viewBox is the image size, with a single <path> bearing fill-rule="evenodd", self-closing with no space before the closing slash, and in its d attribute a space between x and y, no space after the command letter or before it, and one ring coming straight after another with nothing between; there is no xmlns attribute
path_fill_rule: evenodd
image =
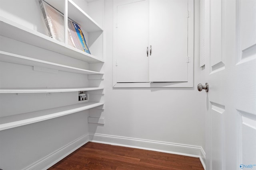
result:
<svg viewBox="0 0 256 170"><path fill-rule="evenodd" d="M72 141L68 145L56 150L55 152L52 152L41 160L34 162L30 166L27 166L23 170L47 170L52 165L68 156L70 153L74 152L76 149L82 147L82 145L86 144L88 141L197 157L200 158L200 161L205 169L205 152L202 147L118 137L112 135L89 134Z"/></svg>

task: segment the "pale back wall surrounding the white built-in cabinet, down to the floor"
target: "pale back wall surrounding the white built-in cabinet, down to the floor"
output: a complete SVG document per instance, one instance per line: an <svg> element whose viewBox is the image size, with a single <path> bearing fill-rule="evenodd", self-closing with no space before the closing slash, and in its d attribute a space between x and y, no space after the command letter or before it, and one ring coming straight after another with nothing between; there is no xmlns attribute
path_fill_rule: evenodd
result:
<svg viewBox="0 0 256 170"><path fill-rule="evenodd" d="M104 117L106 123L89 123L91 140L136 147L136 143L118 139L140 139L204 148L205 94L196 88L198 83L204 83L199 67L199 0L195 1L194 88L112 88L112 3L106 0L104 9L105 79L101 84L105 87L105 109L90 113Z"/></svg>

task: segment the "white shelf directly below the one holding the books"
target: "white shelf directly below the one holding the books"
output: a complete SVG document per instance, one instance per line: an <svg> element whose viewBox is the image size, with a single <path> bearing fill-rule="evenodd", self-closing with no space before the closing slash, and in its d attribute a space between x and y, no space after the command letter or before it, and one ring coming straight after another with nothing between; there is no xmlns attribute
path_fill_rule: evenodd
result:
<svg viewBox="0 0 256 170"><path fill-rule="evenodd" d="M79 74L103 74L101 72L84 70L81 68L51 63L48 61L33 59L33 58L25 57L22 55L7 53L5 51L0 51L0 61L4 61L4 62L8 62L8 63L23 64L23 65L28 65L28 66L38 66L38 67L43 67L43 68L50 68L50 69L54 69L54 70L73 72L73 73L79 73Z"/></svg>

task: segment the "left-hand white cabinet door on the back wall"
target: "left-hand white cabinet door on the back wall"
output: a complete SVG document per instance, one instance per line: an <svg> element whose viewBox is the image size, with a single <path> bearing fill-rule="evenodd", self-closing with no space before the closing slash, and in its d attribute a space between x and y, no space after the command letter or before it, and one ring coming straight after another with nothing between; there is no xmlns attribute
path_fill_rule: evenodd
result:
<svg viewBox="0 0 256 170"><path fill-rule="evenodd" d="M122 2L117 6L117 82L148 82L149 2Z"/></svg>

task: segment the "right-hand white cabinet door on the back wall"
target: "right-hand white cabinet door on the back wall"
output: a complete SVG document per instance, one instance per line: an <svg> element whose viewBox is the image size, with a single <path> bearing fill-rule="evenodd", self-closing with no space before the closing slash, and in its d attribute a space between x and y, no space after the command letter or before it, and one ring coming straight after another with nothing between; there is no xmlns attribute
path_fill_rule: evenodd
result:
<svg viewBox="0 0 256 170"><path fill-rule="evenodd" d="M150 82L188 81L188 0L150 0Z"/></svg>

